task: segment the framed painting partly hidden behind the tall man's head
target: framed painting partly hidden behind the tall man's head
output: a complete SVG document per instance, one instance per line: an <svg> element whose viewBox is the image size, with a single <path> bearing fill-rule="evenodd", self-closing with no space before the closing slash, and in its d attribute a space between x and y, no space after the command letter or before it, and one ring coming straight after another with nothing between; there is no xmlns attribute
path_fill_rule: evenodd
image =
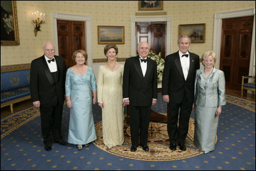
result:
<svg viewBox="0 0 256 171"><path fill-rule="evenodd" d="M179 37L180 35L188 35L191 38L191 43L204 43L205 24L179 25Z"/></svg>

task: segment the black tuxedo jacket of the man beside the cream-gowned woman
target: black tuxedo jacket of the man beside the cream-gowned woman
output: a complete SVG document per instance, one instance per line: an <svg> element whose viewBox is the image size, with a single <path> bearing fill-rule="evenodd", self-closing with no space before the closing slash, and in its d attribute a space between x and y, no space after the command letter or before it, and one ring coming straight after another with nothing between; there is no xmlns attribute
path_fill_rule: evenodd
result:
<svg viewBox="0 0 256 171"><path fill-rule="evenodd" d="M126 59L123 74L123 98L133 106L151 106L157 99L157 62L147 58L147 70L142 74L139 56Z"/></svg>

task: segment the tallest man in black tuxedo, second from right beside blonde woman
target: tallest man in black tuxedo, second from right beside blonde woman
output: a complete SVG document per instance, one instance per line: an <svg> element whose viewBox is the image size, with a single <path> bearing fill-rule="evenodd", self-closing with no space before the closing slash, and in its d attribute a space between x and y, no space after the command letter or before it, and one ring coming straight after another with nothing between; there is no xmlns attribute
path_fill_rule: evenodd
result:
<svg viewBox="0 0 256 171"><path fill-rule="evenodd" d="M173 151L176 150L176 141L180 150L186 150L185 138L189 130L189 118L194 102L195 74L196 70L200 69L199 56L188 51L190 45L191 39L187 35L179 37L180 50L166 56L164 64L162 95L169 106L167 131L169 148ZM179 110L180 117L178 117Z"/></svg>

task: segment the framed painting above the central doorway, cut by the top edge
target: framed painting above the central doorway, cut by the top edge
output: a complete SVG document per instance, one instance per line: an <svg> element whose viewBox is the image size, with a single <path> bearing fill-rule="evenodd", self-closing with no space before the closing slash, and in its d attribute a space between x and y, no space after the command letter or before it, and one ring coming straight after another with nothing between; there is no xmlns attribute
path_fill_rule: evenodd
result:
<svg viewBox="0 0 256 171"><path fill-rule="evenodd" d="M163 10L164 1L139 1L139 11Z"/></svg>

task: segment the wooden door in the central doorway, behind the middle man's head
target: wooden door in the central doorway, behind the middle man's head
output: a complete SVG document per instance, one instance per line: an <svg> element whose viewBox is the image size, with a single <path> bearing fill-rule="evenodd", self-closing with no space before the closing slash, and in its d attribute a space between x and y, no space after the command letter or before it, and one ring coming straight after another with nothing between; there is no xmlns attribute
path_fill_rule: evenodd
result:
<svg viewBox="0 0 256 171"><path fill-rule="evenodd" d="M148 42L150 50L166 58L166 24L137 24L137 44Z"/></svg>

